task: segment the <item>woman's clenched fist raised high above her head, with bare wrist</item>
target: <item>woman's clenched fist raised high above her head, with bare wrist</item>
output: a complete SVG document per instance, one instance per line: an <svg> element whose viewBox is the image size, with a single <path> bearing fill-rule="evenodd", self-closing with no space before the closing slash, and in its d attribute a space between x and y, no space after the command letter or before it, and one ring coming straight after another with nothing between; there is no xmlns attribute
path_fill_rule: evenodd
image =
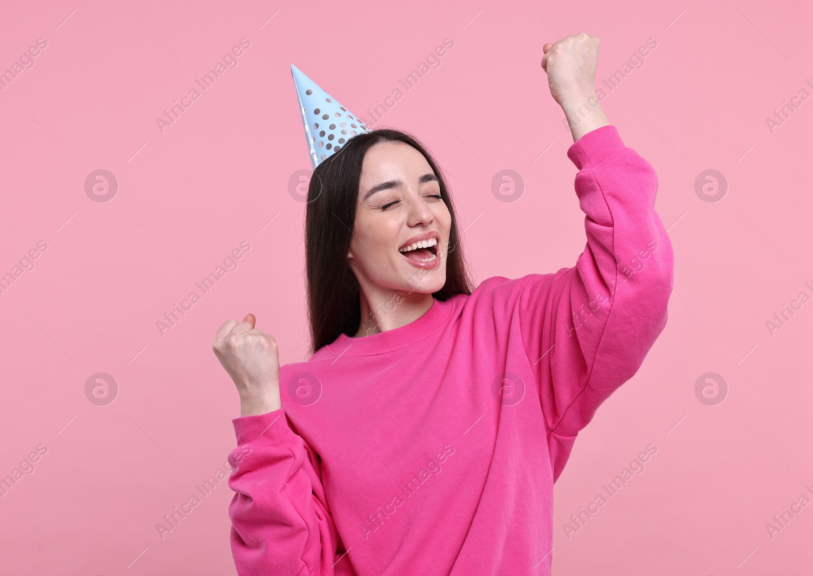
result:
<svg viewBox="0 0 813 576"><path fill-rule="evenodd" d="M606 126L594 86L598 62L598 38L580 32L542 46L542 70L548 75L550 95L562 106L577 141L587 132Z"/></svg>

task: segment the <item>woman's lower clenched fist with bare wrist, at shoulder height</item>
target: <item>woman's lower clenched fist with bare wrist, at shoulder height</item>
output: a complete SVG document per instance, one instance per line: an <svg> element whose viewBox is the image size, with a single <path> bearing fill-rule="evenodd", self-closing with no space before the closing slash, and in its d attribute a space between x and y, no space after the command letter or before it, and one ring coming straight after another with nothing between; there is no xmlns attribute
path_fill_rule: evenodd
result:
<svg viewBox="0 0 813 576"><path fill-rule="evenodd" d="M228 319L211 347L240 394L240 415L267 414L280 409L280 360L276 340L254 328L254 314L241 323Z"/></svg>

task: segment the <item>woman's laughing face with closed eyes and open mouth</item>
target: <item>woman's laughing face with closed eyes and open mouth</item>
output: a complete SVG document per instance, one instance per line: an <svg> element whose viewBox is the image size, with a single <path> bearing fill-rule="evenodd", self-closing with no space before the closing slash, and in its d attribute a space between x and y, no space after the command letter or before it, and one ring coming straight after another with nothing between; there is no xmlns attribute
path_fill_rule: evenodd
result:
<svg viewBox="0 0 813 576"><path fill-rule="evenodd" d="M362 287L429 294L443 288L450 227L449 208L423 154L403 142L367 150L347 255Z"/></svg>

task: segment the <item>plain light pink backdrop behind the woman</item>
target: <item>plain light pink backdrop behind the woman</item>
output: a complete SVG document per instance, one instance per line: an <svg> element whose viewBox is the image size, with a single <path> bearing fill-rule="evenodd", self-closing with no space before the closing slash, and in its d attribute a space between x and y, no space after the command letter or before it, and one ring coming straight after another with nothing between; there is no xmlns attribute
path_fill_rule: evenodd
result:
<svg viewBox="0 0 813 576"><path fill-rule="evenodd" d="M544 43L582 31L602 42L597 88L658 43L602 107L657 171L675 287L646 362L555 485L554 574L811 574L813 506L766 529L813 499L813 302L766 327L813 296L813 100L773 133L765 120L813 93L809 2L4 2L0 21L0 71L48 42L0 92L0 274L47 245L0 294L0 479L47 448L0 498L4 574L235 573L225 483L163 539L155 526L235 444L217 327L252 312L281 362L307 351L305 205L289 178L311 164L292 63L370 120L454 41L379 126L437 154L480 282L573 266L584 249L572 137L539 65ZM162 133L156 117L244 37L237 67ZM98 169L119 182L111 201L85 193ZM524 179L518 201L492 193L504 169ZM695 193L706 169L728 180L721 201ZM161 336L156 322L243 240L237 270ZM85 396L96 372L118 383L109 405ZM706 372L728 383L720 404L695 395ZM645 473L568 539L571 514L647 444Z"/></svg>

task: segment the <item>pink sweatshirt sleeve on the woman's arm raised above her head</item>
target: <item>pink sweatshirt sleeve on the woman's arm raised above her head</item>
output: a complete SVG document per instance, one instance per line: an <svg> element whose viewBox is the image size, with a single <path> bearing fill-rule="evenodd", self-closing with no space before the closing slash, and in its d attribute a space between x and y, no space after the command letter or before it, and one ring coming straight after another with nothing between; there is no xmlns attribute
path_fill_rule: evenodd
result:
<svg viewBox="0 0 813 576"><path fill-rule="evenodd" d="M654 210L653 167L613 125L567 150L587 245L576 266L529 275L520 327L541 399L554 481L576 434L641 366L667 321L672 244Z"/></svg>

